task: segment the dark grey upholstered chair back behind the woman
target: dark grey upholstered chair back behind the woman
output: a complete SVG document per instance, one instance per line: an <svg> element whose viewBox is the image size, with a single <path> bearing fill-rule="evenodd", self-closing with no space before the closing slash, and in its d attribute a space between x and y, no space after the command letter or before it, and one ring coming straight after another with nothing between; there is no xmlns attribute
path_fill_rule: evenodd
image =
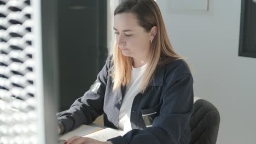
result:
<svg viewBox="0 0 256 144"><path fill-rule="evenodd" d="M205 99L194 98L194 110L190 119L190 144L215 144L220 117L217 108Z"/></svg>

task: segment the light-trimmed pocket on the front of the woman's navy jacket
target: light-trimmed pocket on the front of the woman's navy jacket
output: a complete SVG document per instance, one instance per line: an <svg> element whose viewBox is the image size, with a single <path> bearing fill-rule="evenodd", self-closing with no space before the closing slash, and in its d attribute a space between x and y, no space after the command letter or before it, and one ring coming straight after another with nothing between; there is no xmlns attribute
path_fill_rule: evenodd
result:
<svg viewBox="0 0 256 144"><path fill-rule="evenodd" d="M141 110L142 118L147 128L152 127L155 117L159 116L160 106L161 105L158 104L153 108Z"/></svg>

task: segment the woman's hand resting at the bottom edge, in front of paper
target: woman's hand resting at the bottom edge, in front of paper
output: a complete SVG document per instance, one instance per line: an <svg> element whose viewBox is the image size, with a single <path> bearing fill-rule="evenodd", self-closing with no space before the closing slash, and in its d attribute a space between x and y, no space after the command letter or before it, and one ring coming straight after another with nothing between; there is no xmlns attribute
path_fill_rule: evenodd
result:
<svg viewBox="0 0 256 144"><path fill-rule="evenodd" d="M95 139L91 139L89 137L81 137L81 136L73 136L71 139L67 140L65 144L112 144L112 142L107 141L98 141Z"/></svg>

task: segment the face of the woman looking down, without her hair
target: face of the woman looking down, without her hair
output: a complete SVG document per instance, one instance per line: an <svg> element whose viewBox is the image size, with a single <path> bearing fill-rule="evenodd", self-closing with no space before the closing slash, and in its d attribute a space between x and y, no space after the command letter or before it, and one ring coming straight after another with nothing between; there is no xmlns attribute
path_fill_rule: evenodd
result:
<svg viewBox="0 0 256 144"><path fill-rule="evenodd" d="M146 61L149 55L150 33L138 25L137 18L131 13L114 16L115 38L124 56Z"/></svg>

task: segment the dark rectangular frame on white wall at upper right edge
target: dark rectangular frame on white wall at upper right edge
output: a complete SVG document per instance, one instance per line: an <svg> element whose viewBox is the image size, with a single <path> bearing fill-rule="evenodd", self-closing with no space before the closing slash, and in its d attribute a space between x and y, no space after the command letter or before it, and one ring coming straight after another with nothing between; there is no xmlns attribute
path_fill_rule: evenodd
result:
<svg viewBox="0 0 256 144"><path fill-rule="evenodd" d="M241 2L238 56L256 58L256 0Z"/></svg>

